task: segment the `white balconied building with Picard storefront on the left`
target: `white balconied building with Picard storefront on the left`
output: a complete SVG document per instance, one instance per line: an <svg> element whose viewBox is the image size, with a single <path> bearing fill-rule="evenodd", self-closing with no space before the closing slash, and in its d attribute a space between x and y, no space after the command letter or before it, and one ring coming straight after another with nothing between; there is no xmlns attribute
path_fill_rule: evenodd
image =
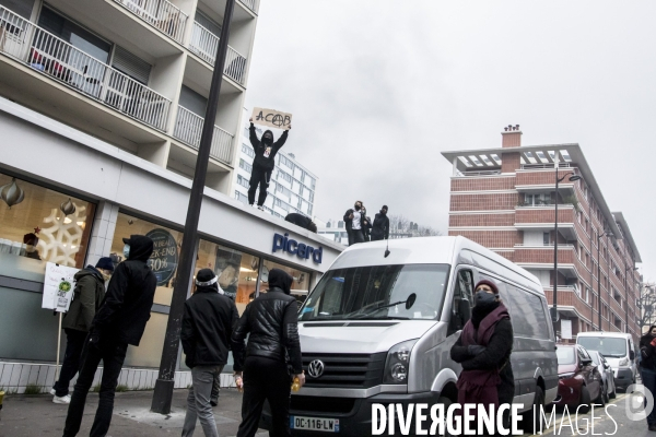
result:
<svg viewBox="0 0 656 437"><path fill-rule="evenodd" d="M154 386L224 5L221 0L0 0L0 386L5 389L20 392L36 383L49 390L54 382L58 318L42 308L46 269L81 269L99 257L118 263L121 238L132 234L155 240L149 263L157 290L141 344L129 349L119 383ZM195 271L215 271L221 286L235 293L239 311L267 291L273 268L294 277L292 293L303 298L342 250L230 196L256 22L257 3L238 0L195 265ZM285 234L312 247L314 256L288 251L281 244ZM62 341L60 356L65 347ZM176 387L190 382L183 358L180 351Z"/></svg>

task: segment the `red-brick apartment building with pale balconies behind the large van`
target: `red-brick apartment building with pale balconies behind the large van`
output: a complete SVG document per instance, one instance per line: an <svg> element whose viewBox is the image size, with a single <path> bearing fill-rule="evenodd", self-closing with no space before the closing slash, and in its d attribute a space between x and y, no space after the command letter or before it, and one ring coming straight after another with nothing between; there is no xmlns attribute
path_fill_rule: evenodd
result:
<svg viewBox="0 0 656 437"><path fill-rule="evenodd" d="M640 252L624 215L608 206L578 144L523 146L519 127L508 126L501 147L442 155L453 164L448 235L472 239L534 273L550 304L555 281L557 330L565 341L597 330L631 332L637 339ZM563 178L558 192L557 166ZM573 175L581 179L570 181Z"/></svg>

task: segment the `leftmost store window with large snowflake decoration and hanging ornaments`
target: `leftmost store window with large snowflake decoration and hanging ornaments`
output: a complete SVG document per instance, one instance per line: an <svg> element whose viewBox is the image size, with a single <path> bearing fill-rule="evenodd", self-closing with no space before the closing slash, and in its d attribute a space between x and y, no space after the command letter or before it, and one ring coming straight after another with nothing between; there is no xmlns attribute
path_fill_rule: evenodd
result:
<svg viewBox="0 0 656 437"><path fill-rule="evenodd" d="M83 268L95 205L0 173L0 274Z"/></svg>

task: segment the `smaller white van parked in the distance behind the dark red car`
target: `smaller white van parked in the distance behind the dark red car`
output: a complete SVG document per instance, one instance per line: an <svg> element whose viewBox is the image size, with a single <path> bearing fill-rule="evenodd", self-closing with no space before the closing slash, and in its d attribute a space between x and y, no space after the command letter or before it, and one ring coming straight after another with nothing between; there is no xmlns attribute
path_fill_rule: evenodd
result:
<svg viewBox="0 0 656 437"><path fill-rule="evenodd" d="M581 332L576 335L576 343L606 357L612 367L617 388L625 390L635 383L637 349L633 344L633 335L622 332Z"/></svg>

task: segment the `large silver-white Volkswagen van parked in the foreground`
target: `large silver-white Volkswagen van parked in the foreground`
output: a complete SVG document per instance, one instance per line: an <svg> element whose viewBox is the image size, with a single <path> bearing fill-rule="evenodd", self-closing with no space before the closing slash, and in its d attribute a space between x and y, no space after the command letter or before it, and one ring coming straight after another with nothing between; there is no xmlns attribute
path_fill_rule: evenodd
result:
<svg viewBox="0 0 656 437"><path fill-rule="evenodd" d="M555 338L537 277L464 237L390 240L386 253L385 241L351 246L301 307L306 383L292 393L293 435L370 435L373 403L456 402L450 349L482 279L511 312L514 402L530 412L553 401ZM271 426L268 405L260 426Z"/></svg>

